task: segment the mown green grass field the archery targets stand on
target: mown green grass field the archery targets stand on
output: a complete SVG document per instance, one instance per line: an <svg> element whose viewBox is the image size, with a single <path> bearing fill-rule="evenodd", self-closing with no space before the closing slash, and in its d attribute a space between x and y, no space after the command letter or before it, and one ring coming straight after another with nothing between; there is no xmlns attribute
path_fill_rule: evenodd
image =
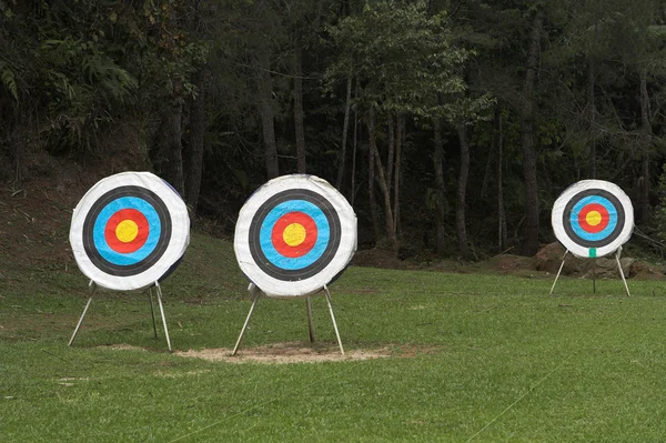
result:
<svg viewBox="0 0 666 443"><path fill-rule="evenodd" d="M0 281L0 442L660 442L658 282L350 268L332 286L347 351L392 358L233 364L165 352L144 294L78 270ZM163 284L176 350L231 348L250 308L231 245L195 235ZM313 299L317 338L335 335ZM243 348L307 340L303 300L261 299ZM118 351L127 343L145 350Z"/></svg>

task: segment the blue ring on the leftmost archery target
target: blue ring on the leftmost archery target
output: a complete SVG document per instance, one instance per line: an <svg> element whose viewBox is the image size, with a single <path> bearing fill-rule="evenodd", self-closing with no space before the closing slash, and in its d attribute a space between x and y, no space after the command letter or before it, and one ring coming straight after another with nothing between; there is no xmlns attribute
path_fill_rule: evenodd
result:
<svg viewBox="0 0 666 443"><path fill-rule="evenodd" d="M143 246L127 254L111 249L104 236L104 229L107 228L109 219L123 209L135 209L141 212L148 220L149 226L148 239ZM92 228L92 239L97 251L104 260L115 265L129 266L139 263L150 255L160 241L161 231L162 224L160 223L160 215L149 202L137 197L121 197L107 204L100 211L100 214L94 222L94 226Z"/></svg>

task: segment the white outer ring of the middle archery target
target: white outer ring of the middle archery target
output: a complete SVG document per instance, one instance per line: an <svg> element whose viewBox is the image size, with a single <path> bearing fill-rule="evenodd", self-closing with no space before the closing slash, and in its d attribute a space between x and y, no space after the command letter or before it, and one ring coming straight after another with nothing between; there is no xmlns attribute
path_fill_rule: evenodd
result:
<svg viewBox="0 0 666 443"><path fill-rule="evenodd" d="M341 239L333 260L321 272L304 280L284 281L261 270L250 252L250 223L259 208L271 197L291 189L306 189L331 202L340 218ZM321 291L345 269L356 252L356 214L346 199L327 181L314 175L292 174L273 179L259 188L248 199L236 222L233 249L241 271L268 296L291 299L307 296Z"/></svg>

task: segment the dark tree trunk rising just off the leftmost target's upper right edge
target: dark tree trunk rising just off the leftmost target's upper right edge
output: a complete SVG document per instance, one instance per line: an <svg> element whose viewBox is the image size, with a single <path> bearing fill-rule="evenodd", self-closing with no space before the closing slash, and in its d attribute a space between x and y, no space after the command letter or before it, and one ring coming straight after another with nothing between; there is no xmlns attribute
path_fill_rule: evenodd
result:
<svg viewBox="0 0 666 443"><path fill-rule="evenodd" d="M205 69L205 68L204 68ZM185 158L185 202L191 215L196 213L203 172L203 135L205 132L206 72L199 70L192 80L196 98L190 103L190 143Z"/></svg>

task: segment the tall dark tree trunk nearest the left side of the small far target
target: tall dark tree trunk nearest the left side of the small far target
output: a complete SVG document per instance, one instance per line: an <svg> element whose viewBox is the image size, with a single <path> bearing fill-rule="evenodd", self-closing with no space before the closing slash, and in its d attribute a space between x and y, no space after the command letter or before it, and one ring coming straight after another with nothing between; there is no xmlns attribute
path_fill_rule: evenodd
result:
<svg viewBox="0 0 666 443"><path fill-rule="evenodd" d="M538 10L532 23L532 38L521 107L521 138L526 191L524 251L527 255L534 255L538 250L538 191L536 181L536 151L534 149L534 83L539 57L542 22L543 12Z"/></svg>

